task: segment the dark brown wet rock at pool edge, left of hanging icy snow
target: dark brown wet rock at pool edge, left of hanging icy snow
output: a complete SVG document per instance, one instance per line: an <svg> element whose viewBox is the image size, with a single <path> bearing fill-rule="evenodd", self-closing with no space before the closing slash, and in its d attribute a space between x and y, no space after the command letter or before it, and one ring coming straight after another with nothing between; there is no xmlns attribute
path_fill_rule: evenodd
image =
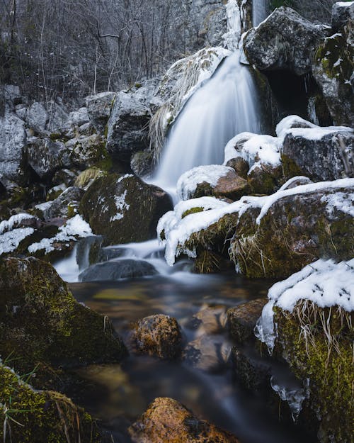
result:
<svg viewBox="0 0 354 443"><path fill-rule="evenodd" d="M256 298L227 311L230 333L236 342L244 344L256 340L253 330L267 301L266 297Z"/></svg>

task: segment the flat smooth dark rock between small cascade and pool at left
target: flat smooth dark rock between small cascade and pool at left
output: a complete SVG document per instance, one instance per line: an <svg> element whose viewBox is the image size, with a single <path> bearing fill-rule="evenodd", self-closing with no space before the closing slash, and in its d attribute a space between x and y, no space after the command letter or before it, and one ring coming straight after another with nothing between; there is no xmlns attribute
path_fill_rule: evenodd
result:
<svg viewBox="0 0 354 443"><path fill-rule="evenodd" d="M81 272L81 281L110 281L120 279L133 279L137 277L157 274L156 269L144 260L119 259L94 264Z"/></svg>

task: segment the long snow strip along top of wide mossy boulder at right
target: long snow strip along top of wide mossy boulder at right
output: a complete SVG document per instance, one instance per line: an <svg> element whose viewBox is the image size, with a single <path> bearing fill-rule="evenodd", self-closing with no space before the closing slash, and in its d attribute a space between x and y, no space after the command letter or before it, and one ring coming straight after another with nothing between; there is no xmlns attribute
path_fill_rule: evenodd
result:
<svg viewBox="0 0 354 443"><path fill-rule="evenodd" d="M304 184L292 189L280 190L270 196L244 196L234 203L219 201L219 203L215 203L214 208L210 208L208 211L190 214L183 219L181 218L181 213L186 211L186 208L203 207L205 201L200 198L194 198L190 201L183 202L185 206L178 206L181 204L178 203L174 208L174 211L169 211L159 220L157 226L158 234L160 235L161 232L164 231L166 237L166 262L172 266L176 257L178 257L181 252L188 254L190 257L195 257L194 251L190 251L186 248L183 249L184 243L188 240L190 235L199 232L200 230L207 229L224 215L235 213L241 216L250 208L260 208L261 211L256 219L256 223L259 224L269 208L280 198L293 196L295 194L307 194L327 189L331 191L333 189L343 188L348 188L347 198L344 199L343 196L338 196L338 198L333 196L333 198L331 198L331 196L329 196L328 201L326 201L328 204L327 210L331 211L331 208L337 207L336 205L341 204L341 211L347 211L347 208L349 207L348 202L353 198L353 187L354 179L339 179L336 181L321 181L319 183ZM209 201L210 200L207 202ZM215 199L215 201L217 200ZM182 208L183 212L181 212Z"/></svg>

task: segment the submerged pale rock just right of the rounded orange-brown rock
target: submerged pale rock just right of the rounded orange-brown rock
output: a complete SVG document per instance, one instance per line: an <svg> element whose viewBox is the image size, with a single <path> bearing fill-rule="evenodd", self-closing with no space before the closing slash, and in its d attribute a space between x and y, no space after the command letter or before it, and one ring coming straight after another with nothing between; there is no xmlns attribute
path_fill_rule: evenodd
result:
<svg viewBox="0 0 354 443"><path fill-rule="evenodd" d="M183 349L182 358L201 371L215 373L225 368L229 352L230 346L224 337L202 335L187 344Z"/></svg>

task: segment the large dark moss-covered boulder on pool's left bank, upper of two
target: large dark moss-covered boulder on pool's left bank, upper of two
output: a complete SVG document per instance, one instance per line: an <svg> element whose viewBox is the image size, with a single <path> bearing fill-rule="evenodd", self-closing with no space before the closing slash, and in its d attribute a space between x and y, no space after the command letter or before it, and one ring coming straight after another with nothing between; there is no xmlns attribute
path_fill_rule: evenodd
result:
<svg viewBox="0 0 354 443"><path fill-rule="evenodd" d="M119 361L125 347L110 320L76 302L50 264L8 258L0 263L0 354L27 370Z"/></svg>

